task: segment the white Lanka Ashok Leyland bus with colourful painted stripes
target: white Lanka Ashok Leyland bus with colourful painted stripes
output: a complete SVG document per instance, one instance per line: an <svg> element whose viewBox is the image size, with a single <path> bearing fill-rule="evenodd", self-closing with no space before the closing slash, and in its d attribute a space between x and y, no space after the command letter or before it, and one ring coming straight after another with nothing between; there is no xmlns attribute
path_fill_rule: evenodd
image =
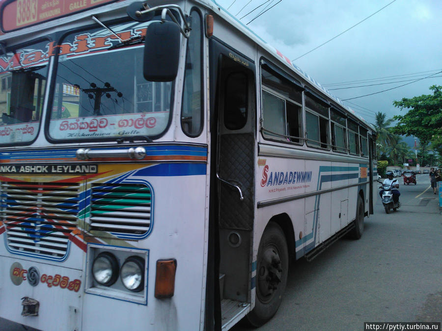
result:
<svg viewBox="0 0 442 331"><path fill-rule="evenodd" d="M260 326L291 260L363 234L374 127L216 0L0 15L1 317Z"/></svg>

